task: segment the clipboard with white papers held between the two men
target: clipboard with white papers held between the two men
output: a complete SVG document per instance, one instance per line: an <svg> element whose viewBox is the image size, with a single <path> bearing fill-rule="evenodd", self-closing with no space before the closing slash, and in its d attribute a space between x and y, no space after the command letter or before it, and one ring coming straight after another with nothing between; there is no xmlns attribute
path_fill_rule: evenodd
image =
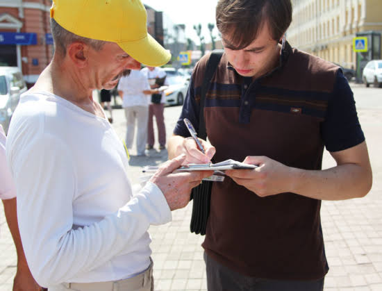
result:
<svg viewBox="0 0 382 291"><path fill-rule="evenodd" d="M191 172L191 171L222 171L224 172L227 169L255 169L256 165L241 163L236 160L224 160L220 163L209 163L209 164L190 164L190 165L183 165L182 167L179 167L176 169L173 173L179 173L179 172ZM152 173L156 172L158 169L157 166L146 166L143 167L142 172L144 173Z"/></svg>

